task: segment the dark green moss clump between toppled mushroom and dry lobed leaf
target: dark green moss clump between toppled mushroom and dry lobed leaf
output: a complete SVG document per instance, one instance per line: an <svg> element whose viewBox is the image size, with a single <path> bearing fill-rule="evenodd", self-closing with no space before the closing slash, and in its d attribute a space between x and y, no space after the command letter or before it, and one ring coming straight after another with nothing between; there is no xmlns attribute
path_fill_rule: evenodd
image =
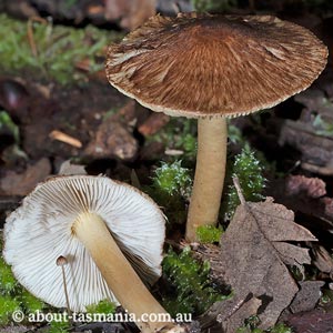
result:
<svg viewBox="0 0 333 333"><path fill-rule="evenodd" d="M163 303L171 315L176 313L203 313L214 302L225 299L211 283L209 262L199 262L190 248L176 254L170 249L162 263L163 274L172 285L174 294L164 295Z"/></svg>

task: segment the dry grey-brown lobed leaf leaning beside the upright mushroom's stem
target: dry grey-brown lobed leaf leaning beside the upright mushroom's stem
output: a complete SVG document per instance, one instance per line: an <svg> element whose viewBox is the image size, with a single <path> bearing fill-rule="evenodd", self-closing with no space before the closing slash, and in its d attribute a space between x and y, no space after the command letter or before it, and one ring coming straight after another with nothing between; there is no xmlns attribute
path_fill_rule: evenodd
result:
<svg viewBox="0 0 333 333"><path fill-rule="evenodd" d="M316 241L309 230L293 220L294 213L273 203L272 198L265 202L248 202L236 209L221 238L219 262L211 262L212 271L220 272L233 290L230 301L218 302L208 312L209 316L220 320L224 315L225 332L235 332L236 326L231 323L245 319L236 304L245 306L250 294L262 303L256 312L261 329L274 325L281 312L291 304L299 286L285 264L302 265L311 259L309 250L286 242ZM234 312L230 313L230 309Z"/></svg>

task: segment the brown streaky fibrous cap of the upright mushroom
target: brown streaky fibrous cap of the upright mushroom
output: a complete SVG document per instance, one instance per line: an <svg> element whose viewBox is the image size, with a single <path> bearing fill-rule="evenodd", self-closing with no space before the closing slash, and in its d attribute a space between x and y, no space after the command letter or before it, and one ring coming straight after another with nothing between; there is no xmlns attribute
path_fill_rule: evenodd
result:
<svg viewBox="0 0 333 333"><path fill-rule="evenodd" d="M306 89L326 64L307 29L270 16L152 17L109 48L110 83L171 115L235 117Z"/></svg>

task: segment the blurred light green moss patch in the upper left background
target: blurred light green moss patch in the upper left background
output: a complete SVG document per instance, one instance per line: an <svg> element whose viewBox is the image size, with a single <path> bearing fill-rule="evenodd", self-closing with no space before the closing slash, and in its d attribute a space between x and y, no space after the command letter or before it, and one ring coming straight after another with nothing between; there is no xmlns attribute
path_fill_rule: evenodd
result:
<svg viewBox="0 0 333 333"><path fill-rule="evenodd" d="M90 63L90 72L103 68L103 48L121 34L99 30L92 26L73 29L53 27L51 22L33 23L33 39L38 54L33 56L27 37L27 22L0 14L0 62L7 74L24 70L34 79L56 80L67 84L87 77L75 71L74 64L83 59Z"/></svg>

